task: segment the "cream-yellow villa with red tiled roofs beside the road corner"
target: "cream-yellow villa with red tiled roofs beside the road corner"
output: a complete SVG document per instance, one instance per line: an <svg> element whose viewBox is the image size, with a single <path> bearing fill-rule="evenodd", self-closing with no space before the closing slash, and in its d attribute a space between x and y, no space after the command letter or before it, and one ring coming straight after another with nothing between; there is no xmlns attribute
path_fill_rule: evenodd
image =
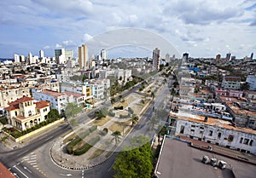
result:
<svg viewBox="0 0 256 178"><path fill-rule="evenodd" d="M49 102L23 96L9 103L5 111L9 124L16 129L25 130L47 119Z"/></svg>

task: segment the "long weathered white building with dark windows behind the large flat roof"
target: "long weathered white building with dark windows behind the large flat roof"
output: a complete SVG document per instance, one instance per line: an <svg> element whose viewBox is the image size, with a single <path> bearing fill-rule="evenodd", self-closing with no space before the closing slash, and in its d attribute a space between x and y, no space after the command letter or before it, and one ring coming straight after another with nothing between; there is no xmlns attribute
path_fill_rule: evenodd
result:
<svg viewBox="0 0 256 178"><path fill-rule="evenodd" d="M229 121L200 116L179 117L175 135L184 135L195 140L256 154L256 131L237 127Z"/></svg>

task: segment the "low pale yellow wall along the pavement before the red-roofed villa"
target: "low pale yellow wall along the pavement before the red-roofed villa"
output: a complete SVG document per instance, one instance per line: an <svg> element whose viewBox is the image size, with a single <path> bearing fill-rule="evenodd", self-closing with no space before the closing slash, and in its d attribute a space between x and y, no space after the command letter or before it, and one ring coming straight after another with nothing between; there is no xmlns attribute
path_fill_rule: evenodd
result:
<svg viewBox="0 0 256 178"><path fill-rule="evenodd" d="M20 141L25 140L25 139L28 138L28 137L31 137L32 135L38 134L39 132L43 131L44 129L48 129L49 127L51 127L51 126L53 126L53 125L55 125L55 124L57 124L57 123L61 123L62 121L64 121L64 118L60 118L59 120L56 120L56 121L53 122L53 123L49 123L49 124L47 124L47 125L44 125L44 127L41 127L41 128L39 128L39 129L36 129L36 130L33 130L32 132L27 133L26 135L22 135L22 136L20 136L19 138L16 138L16 139L15 139L15 137L13 137L12 135L9 135L9 134L6 133L6 132L3 132L3 133L4 133L4 135L9 136L9 137L11 138L11 140L13 140L13 141L15 141L15 142L20 142Z"/></svg>

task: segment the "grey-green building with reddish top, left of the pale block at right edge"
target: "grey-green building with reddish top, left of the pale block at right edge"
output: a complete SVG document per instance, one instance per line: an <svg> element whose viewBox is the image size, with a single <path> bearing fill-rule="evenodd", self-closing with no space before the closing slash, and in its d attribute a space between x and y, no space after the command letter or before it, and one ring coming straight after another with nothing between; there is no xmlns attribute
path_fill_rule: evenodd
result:
<svg viewBox="0 0 256 178"><path fill-rule="evenodd" d="M240 77L224 76L221 86L224 89L240 89L240 82Z"/></svg>

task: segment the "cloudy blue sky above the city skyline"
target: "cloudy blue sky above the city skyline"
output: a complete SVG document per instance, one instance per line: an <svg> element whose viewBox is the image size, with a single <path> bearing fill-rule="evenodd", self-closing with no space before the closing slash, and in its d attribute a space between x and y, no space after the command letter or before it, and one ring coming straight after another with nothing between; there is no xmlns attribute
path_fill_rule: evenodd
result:
<svg viewBox="0 0 256 178"><path fill-rule="evenodd" d="M191 57L256 55L255 0L9 0L0 1L0 57L40 49L54 56L61 47L76 56L82 43L122 28L160 35ZM119 46L108 55L152 56L150 50Z"/></svg>

